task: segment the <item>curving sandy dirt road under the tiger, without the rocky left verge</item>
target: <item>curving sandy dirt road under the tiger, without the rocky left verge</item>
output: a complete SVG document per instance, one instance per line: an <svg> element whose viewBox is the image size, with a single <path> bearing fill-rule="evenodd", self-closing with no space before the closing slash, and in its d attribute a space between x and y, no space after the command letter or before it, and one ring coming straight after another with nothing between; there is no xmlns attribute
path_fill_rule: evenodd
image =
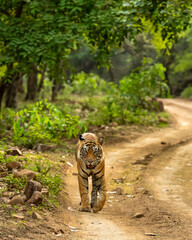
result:
<svg viewBox="0 0 192 240"><path fill-rule="evenodd" d="M100 213L78 212L72 162L65 179L69 239L192 240L192 102L163 102L173 116L170 128L106 144L109 193ZM117 188L122 194L114 193Z"/></svg>

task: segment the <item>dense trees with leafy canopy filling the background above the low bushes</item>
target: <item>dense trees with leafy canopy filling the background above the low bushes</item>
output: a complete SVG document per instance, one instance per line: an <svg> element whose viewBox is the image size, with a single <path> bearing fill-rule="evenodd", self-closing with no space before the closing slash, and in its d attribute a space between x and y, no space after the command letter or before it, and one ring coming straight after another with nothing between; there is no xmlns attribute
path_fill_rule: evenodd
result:
<svg viewBox="0 0 192 240"><path fill-rule="evenodd" d="M137 106L190 86L190 1L2 1L0 14L2 109L92 95L99 78Z"/></svg>

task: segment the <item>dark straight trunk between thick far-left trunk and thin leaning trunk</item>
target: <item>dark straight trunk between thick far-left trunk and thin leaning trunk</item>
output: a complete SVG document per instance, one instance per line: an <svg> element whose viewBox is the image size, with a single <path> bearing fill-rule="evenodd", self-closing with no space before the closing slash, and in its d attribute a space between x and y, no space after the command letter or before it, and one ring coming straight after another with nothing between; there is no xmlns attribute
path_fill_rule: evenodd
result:
<svg viewBox="0 0 192 240"><path fill-rule="evenodd" d="M32 71L28 74L27 95L25 100L35 100L37 93L37 67L33 64Z"/></svg>

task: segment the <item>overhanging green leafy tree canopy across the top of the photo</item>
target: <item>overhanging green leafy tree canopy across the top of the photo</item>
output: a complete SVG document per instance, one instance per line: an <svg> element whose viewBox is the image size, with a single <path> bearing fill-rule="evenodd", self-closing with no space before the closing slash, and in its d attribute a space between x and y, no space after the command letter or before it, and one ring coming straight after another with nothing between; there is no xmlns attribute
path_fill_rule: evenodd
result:
<svg viewBox="0 0 192 240"><path fill-rule="evenodd" d="M67 60L71 51L85 43L100 65L108 64L114 48L127 36L134 40L144 28L144 20L156 29L161 26L163 39L175 40L188 25L190 2L2 0L0 66L7 70L1 78L0 105L5 90L13 88L17 73L29 73L32 64L47 64L47 69L56 66L58 56L59 62Z"/></svg>

